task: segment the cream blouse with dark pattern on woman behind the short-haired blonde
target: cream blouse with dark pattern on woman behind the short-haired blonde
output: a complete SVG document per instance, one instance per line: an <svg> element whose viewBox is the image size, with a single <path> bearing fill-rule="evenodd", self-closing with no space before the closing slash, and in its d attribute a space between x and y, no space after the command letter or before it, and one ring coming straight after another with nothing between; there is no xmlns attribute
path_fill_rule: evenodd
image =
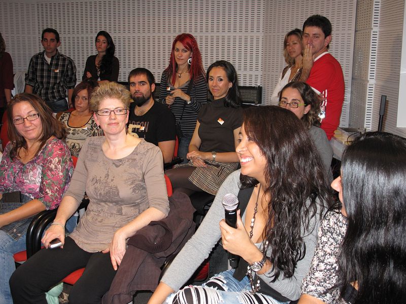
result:
<svg viewBox="0 0 406 304"><path fill-rule="evenodd" d="M59 121L61 121L65 125L66 143L69 146L71 155L79 157L80 149L82 148L82 145L84 144L86 138L97 136L99 134L97 125L93 119L93 115L84 126L74 128L67 123L69 118L71 117L71 113L72 112L63 112L62 115L59 117Z"/></svg>

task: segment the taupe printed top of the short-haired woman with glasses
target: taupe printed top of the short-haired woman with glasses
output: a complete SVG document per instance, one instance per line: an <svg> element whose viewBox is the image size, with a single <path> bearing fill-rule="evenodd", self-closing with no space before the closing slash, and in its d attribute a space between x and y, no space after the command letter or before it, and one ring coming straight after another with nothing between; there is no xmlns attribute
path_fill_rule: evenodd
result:
<svg viewBox="0 0 406 304"><path fill-rule="evenodd" d="M114 233L149 207L169 212L160 149L141 141L130 155L112 160L101 144L104 136L90 137L65 195L78 202L86 191L90 203L70 237L88 252L106 249Z"/></svg>

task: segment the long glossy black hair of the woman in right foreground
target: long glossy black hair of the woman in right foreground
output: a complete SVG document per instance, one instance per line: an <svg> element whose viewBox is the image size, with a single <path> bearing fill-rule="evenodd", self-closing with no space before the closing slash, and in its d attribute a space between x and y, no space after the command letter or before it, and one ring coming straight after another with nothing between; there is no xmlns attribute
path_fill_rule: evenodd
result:
<svg viewBox="0 0 406 304"><path fill-rule="evenodd" d="M341 294L353 304L406 303L406 139L370 132L342 159L348 229L339 253Z"/></svg>

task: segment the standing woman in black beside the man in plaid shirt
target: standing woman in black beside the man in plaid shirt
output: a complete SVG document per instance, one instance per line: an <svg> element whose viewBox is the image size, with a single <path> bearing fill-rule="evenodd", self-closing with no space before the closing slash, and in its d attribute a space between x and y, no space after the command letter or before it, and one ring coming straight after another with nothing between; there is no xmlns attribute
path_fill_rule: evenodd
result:
<svg viewBox="0 0 406 304"><path fill-rule="evenodd" d="M107 31L99 31L96 35L95 45L97 55L89 56L86 60L82 80L91 78L99 83L118 81L120 63L114 52L113 39Z"/></svg>

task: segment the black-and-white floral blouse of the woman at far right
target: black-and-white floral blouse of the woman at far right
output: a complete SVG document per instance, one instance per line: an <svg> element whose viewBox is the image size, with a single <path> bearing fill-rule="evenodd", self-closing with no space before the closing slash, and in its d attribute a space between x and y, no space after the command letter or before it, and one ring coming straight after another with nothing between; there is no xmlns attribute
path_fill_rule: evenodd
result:
<svg viewBox="0 0 406 304"><path fill-rule="evenodd" d="M347 231L347 218L341 213L328 212L321 222L316 251L309 273L303 279L301 292L328 304L347 303L338 289L330 290L337 281L337 255Z"/></svg>

